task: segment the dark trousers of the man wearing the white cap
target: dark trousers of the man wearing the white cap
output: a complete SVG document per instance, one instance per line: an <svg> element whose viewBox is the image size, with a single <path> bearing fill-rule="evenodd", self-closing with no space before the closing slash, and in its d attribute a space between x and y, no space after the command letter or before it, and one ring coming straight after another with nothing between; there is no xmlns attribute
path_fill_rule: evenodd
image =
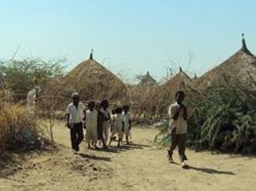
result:
<svg viewBox="0 0 256 191"><path fill-rule="evenodd" d="M70 138L72 149L78 151L79 145L84 139L82 123L73 123L73 128L70 129Z"/></svg>

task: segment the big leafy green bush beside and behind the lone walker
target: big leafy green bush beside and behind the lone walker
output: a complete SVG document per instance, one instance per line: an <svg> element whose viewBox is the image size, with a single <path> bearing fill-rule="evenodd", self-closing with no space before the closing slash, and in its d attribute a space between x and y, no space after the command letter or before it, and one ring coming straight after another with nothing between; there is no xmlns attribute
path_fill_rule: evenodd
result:
<svg viewBox="0 0 256 191"><path fill-rule="evenodd" d="M187 145L195 150L256 153L256 92L242 86L236 90L210 90L187 99L193 109L188 120ZM167 145L168 124L160 127L158 146Z"/></svg>

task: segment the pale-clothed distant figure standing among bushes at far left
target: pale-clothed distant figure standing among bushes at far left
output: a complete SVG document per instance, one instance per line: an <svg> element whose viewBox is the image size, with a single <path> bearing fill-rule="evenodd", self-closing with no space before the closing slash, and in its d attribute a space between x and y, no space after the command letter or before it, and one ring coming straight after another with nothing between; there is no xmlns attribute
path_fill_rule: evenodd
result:
<svg viewBox="0 0 256 191"><path fill-rule="evenodd" d="M41 88L34 87L26 96L26 110L28 113L34 115L36 111L37 96L41 92Z"/></svg>

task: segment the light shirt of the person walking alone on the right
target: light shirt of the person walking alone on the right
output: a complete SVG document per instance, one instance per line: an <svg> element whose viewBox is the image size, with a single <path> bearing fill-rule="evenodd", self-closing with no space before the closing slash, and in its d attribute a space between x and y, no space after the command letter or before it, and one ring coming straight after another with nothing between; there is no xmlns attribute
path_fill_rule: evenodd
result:
<svg viewBox="0 0 256 191"><path fill-rule="evenodd" d="M170 133L175 129L176 134L187 134L187 120L183 118L183 109L179 111L180 105L178 103L173 103L169 107L168 114L170 117ZM173 117L175 113L179 111L178 119L174 120Z"/></svg>

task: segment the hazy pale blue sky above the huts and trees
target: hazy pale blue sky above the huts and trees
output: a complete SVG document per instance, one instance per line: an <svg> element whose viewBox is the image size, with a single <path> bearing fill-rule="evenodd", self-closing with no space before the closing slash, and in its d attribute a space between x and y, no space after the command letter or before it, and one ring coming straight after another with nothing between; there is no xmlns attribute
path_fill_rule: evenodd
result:
<svg viewBox="0 0 256 191"><path fill-rule="evenodd" d="M201 75L240 49L241 33L256 53L255 19L254 0L0 0L0 59L20 45L17 58L66 57L73 68L93 48L129 78L159 80L178 65Z"/></svg>

